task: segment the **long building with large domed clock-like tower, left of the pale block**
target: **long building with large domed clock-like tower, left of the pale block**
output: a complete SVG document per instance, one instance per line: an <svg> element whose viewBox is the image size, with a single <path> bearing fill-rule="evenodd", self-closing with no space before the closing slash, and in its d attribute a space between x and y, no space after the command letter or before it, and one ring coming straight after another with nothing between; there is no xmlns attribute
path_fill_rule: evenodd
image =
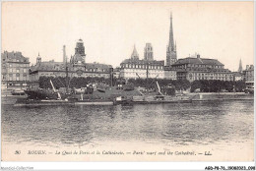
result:
<svg viewBox="0 0 256 171"><path fill-rule="evenodd" d="M65 52L63 52L65 54ZM85 47L82 39L79 39L75 48L75 55L71 56L70 62L63 57L63 62L54 60L42 62L41 57L36 58L36 64L30 69L30 86L38 87L40 77L68 77L70 78L110 78L111 65L85 62Z"/></svg>

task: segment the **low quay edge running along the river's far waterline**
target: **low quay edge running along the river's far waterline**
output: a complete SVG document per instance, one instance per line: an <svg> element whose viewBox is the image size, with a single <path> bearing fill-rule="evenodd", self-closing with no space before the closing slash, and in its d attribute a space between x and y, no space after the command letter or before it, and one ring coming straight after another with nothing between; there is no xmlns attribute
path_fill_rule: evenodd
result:
<svg viewBox="0 0 256 171"><path fill-rule="evenodd" d="M195 101L215 101L215 100L254 100L253 94L244 92L199 92L187 93L186 96L189 100L162 100L162 101L129 101L129 104L159 104L159 103L182 103L182 102L195 102ZM40 100L40 101L26 101L26 95L8 95L2 96L1 101L4 105L14 106L58 106L58 105L115 105L123 104L116 101L67 101L67 100ZM175 97L173 97L175 98ZM125 103L124 103L125 104Z"/></svg>

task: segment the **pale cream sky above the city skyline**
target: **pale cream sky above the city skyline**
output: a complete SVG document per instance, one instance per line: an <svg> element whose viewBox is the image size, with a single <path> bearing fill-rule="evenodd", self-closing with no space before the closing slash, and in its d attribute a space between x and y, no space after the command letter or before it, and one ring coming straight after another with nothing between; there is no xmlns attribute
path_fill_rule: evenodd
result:
<svg viewBox="0 0 256 171"><path fill-rule="evenodd" d="M86 62L117 67L134 44L142 59L147 42L165 60L170 11L178 59L199 53L231 71L240 59L253 64L253 2L2 2L1 52L62 61L63 45L70 58L82 38Z"/></svg>

